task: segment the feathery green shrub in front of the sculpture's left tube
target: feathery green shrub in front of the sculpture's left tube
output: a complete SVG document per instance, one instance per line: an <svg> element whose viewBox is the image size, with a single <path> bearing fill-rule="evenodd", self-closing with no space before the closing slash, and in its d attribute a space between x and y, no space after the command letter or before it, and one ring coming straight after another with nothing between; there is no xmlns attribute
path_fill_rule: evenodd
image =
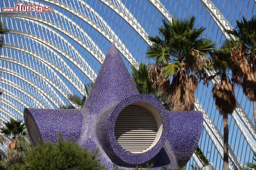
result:
<svg viewBox="0 0 256 170"><path fill-rule="evenodd" d="M23 159L21 170L105 170L100 164L98 152L88 152L78 143L62 141L53 145L50 142L39 141L32 147Z"/></svg>

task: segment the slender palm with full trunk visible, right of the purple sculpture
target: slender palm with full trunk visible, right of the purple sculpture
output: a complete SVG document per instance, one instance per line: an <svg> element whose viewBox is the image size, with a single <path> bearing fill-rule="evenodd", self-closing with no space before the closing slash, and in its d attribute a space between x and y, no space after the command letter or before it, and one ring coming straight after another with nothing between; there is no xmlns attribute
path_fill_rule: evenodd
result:
<svg viewBox="0 0 256 170"><path fill-rule="evenodd" d="M220 114L223 115L224 122L224 157L223 157L223 169L229 170L228 163L228 114L232 114L236 107L235 93L233 86L228 77L228 71L232 67L229 60L229 55L222 53L221 51L213 51L210 53L213 59L213 66L216 70L216 74L219 78L219 83L215 83L212 89L213 98L215 100L216 108Z"/></svg>

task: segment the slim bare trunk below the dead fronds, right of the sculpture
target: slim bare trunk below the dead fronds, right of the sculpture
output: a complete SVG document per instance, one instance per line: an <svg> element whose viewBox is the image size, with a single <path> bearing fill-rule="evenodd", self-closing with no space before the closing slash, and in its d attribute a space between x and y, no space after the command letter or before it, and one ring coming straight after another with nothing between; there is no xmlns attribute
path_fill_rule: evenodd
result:
<svg viewBox="0 0 256 170"><path fill-rule="evenodd" d="M223 115L223 122L224 122L224 155L223 155L223 170L229 170L228 164L228 114Z"/></svg>

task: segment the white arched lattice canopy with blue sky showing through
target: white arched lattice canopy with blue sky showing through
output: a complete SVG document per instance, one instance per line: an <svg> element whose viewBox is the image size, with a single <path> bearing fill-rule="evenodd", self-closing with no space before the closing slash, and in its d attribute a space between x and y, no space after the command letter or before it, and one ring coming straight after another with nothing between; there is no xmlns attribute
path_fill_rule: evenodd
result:
<svg viewBox="0 0 256 170"><path fill-rule="evenodd" d="M3 0L1 7L14 7L17 0ZM157 35L162 19L195 16L207 27L204 37L217 44L233 38L224 29L234 28L236 19L256 14L255 0L24 0L25 5L52 7L53 12L3 12L1 20L11 30L1 49L1 120L23 119L25 107L57 109L71 92L82 96L84 84L95 81L114 42L126 67L150 62L145 52L147 35ZM209 75L213 73L208 73ZM211 89L203 84L195 94L196 110L204 115L199 147L215 169L223 167L223 120ZM229 117L230 168L252 161L256 151L252 102L235 87L236 109ZM196 154L188 164L202 165Z"/></svg>

